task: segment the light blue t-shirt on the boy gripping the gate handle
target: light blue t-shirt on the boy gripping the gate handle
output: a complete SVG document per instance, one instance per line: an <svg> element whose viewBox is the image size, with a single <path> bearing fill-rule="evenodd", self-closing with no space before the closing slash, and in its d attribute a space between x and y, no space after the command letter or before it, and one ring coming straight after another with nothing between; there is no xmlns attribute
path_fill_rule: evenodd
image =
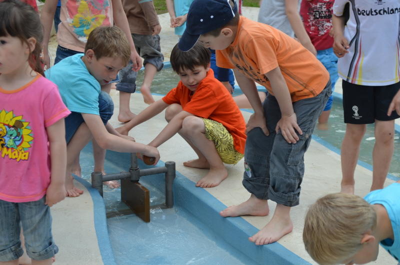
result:
<svg viewBox="0 0 400 265"><path fill-rule="evenodd" d="M44 72L58 86L62 101L70 111L97 114L100 84L89 73L78 53L60 60Z"/></svg>

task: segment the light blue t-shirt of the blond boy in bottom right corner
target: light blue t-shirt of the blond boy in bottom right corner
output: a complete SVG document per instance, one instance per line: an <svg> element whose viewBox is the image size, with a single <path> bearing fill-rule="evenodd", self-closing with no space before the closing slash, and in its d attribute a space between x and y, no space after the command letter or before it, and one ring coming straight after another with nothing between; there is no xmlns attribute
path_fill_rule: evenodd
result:
<svg viewBox="0 0 400 265"><path fill-rule="evenodd" d="M364 199L369 204L382 204L386 208L393 229L393 238L380 241L380 245L397 261L400 258L400 183L369 192Z"/></svg>

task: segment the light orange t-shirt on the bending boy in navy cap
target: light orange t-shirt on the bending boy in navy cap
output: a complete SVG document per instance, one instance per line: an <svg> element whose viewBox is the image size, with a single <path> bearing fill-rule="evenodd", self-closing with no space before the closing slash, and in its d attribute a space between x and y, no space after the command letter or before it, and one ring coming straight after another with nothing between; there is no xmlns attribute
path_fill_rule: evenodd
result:
<svg viewBox="0 0 400 265"><path fill-rule="evenodd" d="M316 96L329 80L322 63L294 38L243 16L240 16L232 44L215 53L219 67L237 68L265 86L272 95L265 73L279 66L292 102Z"/></svg>

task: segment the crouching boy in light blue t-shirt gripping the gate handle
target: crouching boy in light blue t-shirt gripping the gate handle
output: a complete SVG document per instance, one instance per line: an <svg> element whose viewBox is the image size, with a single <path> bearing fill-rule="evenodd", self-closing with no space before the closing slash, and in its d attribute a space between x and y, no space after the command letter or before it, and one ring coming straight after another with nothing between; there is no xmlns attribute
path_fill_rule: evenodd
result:
<svg viewBox="0 0 400 265"><path fill-rule="evenodd" d="M116 26L101 26L89 34L84 53L66 57L45 71L46 77L58 86L64 104L71 111L65 118L67 196L83 193L73 185L71 168L80 150L92 137L103 149L140 152L155 157L154 164L159 159L155 147L132 141L108 123L113 103L107 93L100 92L100 85L115 79L129 56L130 48L123 31ZM94 168L94 171L99 169Z"/></svg>

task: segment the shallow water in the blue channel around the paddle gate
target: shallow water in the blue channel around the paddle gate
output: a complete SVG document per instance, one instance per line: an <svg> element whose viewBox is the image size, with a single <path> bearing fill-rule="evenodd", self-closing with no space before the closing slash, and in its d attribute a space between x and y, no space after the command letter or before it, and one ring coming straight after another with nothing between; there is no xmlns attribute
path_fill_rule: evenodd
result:
<svg viewBox="0 0 400 265"><path fill-rule="evenodd" d="M128 159L112 158L115 155L107 151L106 172L127 171ZM90 182L93 170L90 145L80 153L80 164L82 177ZM139 167L144 168L141 161ZM128 210L120 199L120 188L103 185L107 228L117 264L255 264L184 208L176 204L170 209L158 206L165 202L165 196L163 190L153 185L157 177L162 176L140 178L140 183L150 191L152 207L148 223Z"/></svg>

